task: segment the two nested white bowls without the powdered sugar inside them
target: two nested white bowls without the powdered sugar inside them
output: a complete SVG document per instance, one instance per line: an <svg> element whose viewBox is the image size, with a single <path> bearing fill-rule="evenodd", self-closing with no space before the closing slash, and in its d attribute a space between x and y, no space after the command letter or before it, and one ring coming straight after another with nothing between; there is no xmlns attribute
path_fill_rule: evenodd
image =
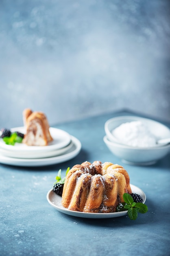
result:
<svg viewBox="0 0 170 256"><path fill-rule="evenodd" d="M164 146L153 146L150 148L140 148L127 146L116 141L112 135L113 129L123 123L131 121L142 121L147 124L150 131L155 135L155 137L157 137L157 139L170 137L170 129L167 126L151 119L134 116L111 118L105 123L106 136L103 139L114 155L122 159L123 162L129 164L149 165L154 164L170 152L170 144Z"/></svg>

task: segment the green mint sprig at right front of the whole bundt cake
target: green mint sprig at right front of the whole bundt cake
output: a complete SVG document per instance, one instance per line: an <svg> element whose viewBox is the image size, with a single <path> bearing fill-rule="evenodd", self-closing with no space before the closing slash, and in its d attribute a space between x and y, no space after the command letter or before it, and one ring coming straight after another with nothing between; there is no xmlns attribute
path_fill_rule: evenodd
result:
<svg viewBox="0 0 170 256"><path fill-rule="evenodd" d="M148 211L148 207L146 204L143 203L136 203L134 202L131 195L128 193L123 194L124 202L124 209L128 210L128 216L131 220L136 220L139 213L146 213Z"/></svg>

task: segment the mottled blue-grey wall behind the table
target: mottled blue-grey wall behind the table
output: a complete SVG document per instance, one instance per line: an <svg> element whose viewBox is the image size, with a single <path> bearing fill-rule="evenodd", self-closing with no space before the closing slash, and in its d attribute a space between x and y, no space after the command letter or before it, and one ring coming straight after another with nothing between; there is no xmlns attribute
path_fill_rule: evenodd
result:
<svg viewBox="0 0 170 256"><path fill-rule="evenodd" d="M0 126L128 108L170 121L170 5L0 0Z"/></svg>

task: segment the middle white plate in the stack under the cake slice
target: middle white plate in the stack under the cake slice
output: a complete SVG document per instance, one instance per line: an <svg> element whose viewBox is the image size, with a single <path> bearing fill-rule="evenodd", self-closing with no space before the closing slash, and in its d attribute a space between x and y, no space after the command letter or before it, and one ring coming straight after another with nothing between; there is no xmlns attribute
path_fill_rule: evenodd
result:
<svg viewBox="0 0 170 256"><path fill-rule="evenodd" d="M59 148L56 150L48 150L48 151L30 151L25 153L25 151L13 151L13 150L6 150L0 148L0 155L4 155L6 157L14 157L14 158L24 158L24 159L34 159L34 158L46 158L46 157L56 157L57 155L62 155L67 150L69 150L73 146L73 142L71 141L68 146L63 148Z"/></svg>

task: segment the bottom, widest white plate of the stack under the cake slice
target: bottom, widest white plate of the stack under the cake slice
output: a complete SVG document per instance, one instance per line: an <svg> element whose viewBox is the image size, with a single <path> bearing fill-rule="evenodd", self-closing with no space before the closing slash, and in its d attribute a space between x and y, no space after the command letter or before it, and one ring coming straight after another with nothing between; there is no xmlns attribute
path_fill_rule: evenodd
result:
<svg viewBox="0 0 170 256"><path fill-rule="evenodd" d="M73 142L72 147L66 151L63 155L59 155L56 157L46 157L46 158L36 158L36 159L23 159L23 158L12 158L5 157L0 155L0 163L1 164L9 164L14 166L47 166L51 164L59 164L65 161L68 161L76 155L81 150L81 142L76 138L71 136L71 140Z"/></svg>

